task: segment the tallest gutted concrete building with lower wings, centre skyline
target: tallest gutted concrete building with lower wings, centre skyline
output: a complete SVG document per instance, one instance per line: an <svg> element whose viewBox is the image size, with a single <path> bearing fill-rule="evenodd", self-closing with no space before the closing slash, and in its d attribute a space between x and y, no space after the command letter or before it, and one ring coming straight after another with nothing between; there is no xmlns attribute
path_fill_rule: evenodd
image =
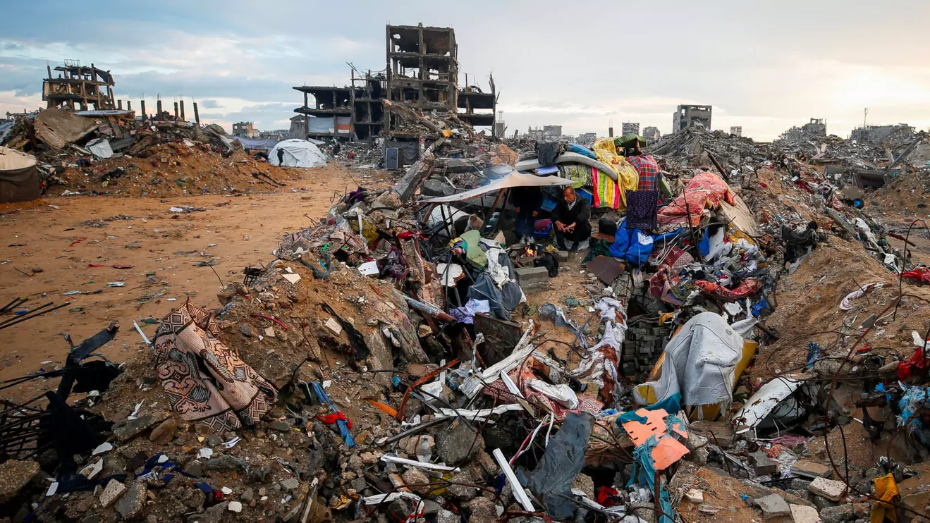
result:
<svg viewBox="0 0 930 523"><path fill-rule="evenodd" d="M458 44L455 30L422 24L387 25L386 67L378 72L352 69L350 86L301 85L304 137L372 142L386 139L385 148L408 151L400 164L416 161L419 132L385 110L385 101L403 102L416 111L455 113L472 126L495 124L497 90L490 78L485 92L468 75L458 85Z"/></svg>

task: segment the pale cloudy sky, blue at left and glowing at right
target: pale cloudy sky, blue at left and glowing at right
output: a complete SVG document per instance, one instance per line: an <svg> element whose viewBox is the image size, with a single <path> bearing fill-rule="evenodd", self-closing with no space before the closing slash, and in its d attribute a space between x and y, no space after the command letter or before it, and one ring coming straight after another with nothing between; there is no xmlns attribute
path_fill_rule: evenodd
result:
<svg viewBox="0 0 930 523"><path fill-rule="evenodd" d="M713 106L711 127L771 140L810 118L848 136L863 123L930 127L930 2L738 0L264 2L0 0L0 115L43 107L46 65L113 72L138 109L196 101L201 121L287 128L294 85L348 85L385 67L387 23L453 27L459 71L493 74L508 134L613 123L671 131L679 104Z"/></svg>

